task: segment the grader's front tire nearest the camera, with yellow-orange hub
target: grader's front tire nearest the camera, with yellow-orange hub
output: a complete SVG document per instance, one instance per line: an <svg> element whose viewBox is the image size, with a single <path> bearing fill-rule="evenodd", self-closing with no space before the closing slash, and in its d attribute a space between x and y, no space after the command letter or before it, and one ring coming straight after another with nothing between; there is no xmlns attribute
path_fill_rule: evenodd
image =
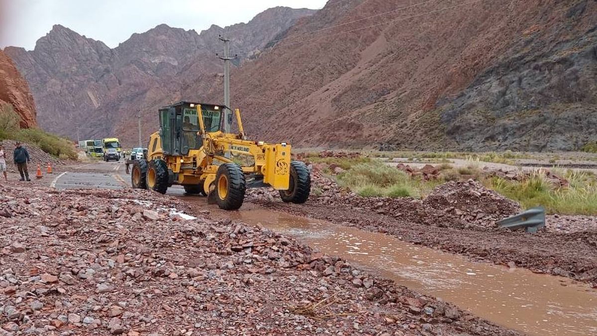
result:
<svg viewBox="0 0 597 336"><path fill-rule="evenodd" d="M241 167L234 163L224 163L216 174L216 203L223 210L236 210L242 206L245 199L245 175Z"/></svg>

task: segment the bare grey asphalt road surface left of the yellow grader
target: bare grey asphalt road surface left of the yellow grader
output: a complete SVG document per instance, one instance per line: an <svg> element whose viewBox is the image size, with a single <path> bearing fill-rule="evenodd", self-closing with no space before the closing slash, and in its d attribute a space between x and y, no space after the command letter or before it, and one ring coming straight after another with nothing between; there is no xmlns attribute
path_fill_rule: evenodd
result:
<svg viewBox="0 0 597 336"><path fill-rule="evenodd" d="M51 182L57 189L108 188L121 189L131 186L131 175L125 172L124 161L99 161L71 167ZM184 189L179 185L168 188L168 194L181 196Z"/></svg>

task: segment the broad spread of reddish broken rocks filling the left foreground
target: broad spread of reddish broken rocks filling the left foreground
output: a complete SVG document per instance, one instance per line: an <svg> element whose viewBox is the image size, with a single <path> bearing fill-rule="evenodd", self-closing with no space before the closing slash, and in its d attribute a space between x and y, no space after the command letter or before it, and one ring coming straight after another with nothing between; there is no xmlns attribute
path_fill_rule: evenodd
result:
<svg viewBox="0 0 597 336"><path fill-rule="evenodd" d="M0 187L0 204L1 335L516 334L157 193Z"/></svg>

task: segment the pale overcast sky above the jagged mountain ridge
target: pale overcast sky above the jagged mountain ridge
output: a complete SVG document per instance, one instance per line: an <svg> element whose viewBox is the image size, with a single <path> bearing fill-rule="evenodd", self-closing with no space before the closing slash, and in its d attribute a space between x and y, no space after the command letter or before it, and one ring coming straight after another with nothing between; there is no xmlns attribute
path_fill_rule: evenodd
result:
<svg viewBox="0 0 597 336"><path fill-rule="evenodd" d="M248 22L276 6L321 8L327 0L0 0L0 48L35 47L60 24L116 47L161 23L197 32Z"/></svg>

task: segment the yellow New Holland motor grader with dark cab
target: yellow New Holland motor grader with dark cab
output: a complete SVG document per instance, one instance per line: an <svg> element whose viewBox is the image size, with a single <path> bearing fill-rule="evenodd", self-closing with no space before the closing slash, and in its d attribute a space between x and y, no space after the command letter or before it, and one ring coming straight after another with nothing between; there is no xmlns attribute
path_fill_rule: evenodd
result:
<svg viewBox="0 0 597 336"><path fill-rule="evenodd" d="M288 143L246 140L241 112L238 133L225 133L223 105L178 102L159 109L159 131L149 138L147 160L134 161L133 188L165 194L174 184L187 194L202 194L221 209L241 207L247 188L270 186L285 202L304 203L309 197L309 170L291 161Z"/></svg>

